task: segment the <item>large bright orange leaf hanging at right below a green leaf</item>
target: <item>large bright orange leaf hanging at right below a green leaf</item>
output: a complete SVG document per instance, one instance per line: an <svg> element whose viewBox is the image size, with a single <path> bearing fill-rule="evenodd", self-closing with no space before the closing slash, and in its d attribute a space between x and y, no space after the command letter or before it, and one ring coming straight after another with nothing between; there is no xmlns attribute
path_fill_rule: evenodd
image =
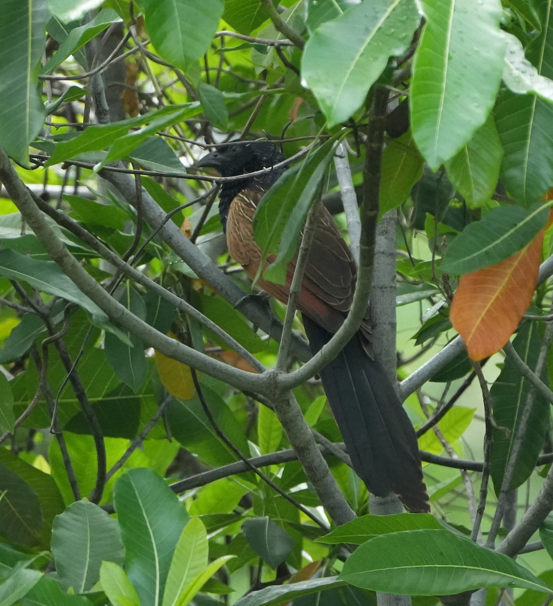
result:
<svg viewBox="0 0 553 606"><path fill-rule="evenodd" d="M461 276L451 305L451 323L463 337L469 356L481 360L499 351L534 296L546 227L516 255L497 265Z"/></svg>

